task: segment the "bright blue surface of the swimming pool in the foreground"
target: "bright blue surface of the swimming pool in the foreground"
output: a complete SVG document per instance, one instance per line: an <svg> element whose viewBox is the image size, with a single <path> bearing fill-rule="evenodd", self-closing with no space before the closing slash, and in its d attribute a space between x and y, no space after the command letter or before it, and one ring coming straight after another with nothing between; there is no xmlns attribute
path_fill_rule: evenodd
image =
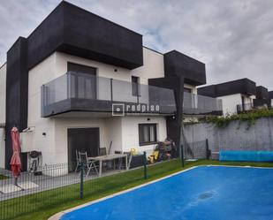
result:
<svg viewBox="0 0 273 220"><path fill-rule="evenodd" d="M197 167L61 219L271 220L273 169Z"/></svg>

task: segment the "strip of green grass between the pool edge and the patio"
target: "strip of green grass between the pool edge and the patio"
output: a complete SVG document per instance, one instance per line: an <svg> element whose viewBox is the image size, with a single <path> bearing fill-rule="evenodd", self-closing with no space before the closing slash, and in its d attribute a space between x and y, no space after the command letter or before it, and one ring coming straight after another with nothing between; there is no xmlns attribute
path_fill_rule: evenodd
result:
<svg viewBox="0 0 273 220"><path fill-rule="evenodd" d="M87 201L94 201L112 193L118 193L133 186L147 183L162 178L171 173L188 169L198 165L234 165L234 166L257 166L257 167L272 167L273 163L241 163L241 162L218 162L199 160L196 162L186 162L185 167L181 167L180 160L172 160L170 162L158 163L148 166L148 179L143 178L143 169L127 171L115 175L96 178L85 182L84 185L84 199L80 200L80 186L64 186L54 190L45 191L42 193L35 193L27 195L10 201L0 202L0 210L3 207L6 212L14 213L11 219L14 220L46 220L49 216L54 215L65 209L78 206ZM19 207L24 207L20 209ZM13 208L11 208L13 207ZM28 210L28 213L26 213Z"/></svg>

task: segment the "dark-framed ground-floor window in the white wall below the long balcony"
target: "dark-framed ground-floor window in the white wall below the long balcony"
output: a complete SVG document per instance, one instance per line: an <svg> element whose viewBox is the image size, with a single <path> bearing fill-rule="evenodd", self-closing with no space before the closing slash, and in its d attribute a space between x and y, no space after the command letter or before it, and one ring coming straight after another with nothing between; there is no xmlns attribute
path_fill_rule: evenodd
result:
<svg viewBox="0 0 273 220"><path fill-rule="evenodd" d="M157 141L156 124L139 124L140 146L153 144Z"/></svg>

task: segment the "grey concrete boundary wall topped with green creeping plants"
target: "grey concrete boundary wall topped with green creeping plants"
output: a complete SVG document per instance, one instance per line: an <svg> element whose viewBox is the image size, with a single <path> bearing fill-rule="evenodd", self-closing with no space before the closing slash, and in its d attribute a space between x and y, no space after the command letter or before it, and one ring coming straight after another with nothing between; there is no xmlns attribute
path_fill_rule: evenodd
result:
<svg viewBox="0 0 273 220"><path fill-rule="evenodd" d="M220 150L273 150L273 118L261 118L254 125L234 121L224 128L211 123L184 125L186 141L209 140L212 152Z"/></svg>

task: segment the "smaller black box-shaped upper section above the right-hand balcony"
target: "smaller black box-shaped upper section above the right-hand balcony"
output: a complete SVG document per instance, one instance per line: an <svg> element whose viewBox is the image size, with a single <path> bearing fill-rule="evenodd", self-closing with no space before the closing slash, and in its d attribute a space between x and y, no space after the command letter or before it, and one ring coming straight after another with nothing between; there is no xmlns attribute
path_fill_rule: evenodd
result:
<svg viewBox="0 0 273 220"><path fill-rule="evenodd" d="M182 76L191 85L206 84L205 64L176 50L164 54L164 71L165 76Z"/></svg>

